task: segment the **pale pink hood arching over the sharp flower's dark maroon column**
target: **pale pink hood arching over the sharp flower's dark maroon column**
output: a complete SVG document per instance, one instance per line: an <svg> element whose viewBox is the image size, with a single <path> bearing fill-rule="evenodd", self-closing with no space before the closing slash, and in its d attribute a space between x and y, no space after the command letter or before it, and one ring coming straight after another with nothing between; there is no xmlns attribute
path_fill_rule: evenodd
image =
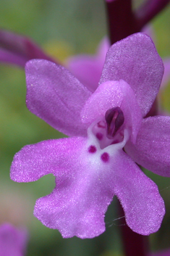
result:
<svg viewBox="0 0 170 256"><path fill-rule="evenodd" d="M93 123L93 121L105 116L107 110L112 107L120 107L124 113L127 126L132 129L132 140L135 140L142 121L140 107L137 104L135 94L132 88L124 82L108 81L102 83L96 91L90 96L82 110L82 122Z"/></svg>

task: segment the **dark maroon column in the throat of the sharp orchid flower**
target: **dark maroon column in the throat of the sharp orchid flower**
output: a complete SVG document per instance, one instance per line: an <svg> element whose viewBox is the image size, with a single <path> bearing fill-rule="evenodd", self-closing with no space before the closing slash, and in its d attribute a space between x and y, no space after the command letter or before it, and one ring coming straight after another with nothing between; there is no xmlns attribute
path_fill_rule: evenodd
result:
<svg viewBox="0 0 170 256"><path fill-rule="evenodd" d="M105 120L107 123L107 137L113 139L116 132L124 123L124 113L120 107L112 107L106 111Z"/></svg>

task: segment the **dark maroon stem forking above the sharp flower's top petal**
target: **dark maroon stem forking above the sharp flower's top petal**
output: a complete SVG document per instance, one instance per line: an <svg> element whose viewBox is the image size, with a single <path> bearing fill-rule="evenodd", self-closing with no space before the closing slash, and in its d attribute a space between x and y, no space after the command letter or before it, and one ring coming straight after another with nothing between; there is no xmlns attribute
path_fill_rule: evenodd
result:
<svg viewBox="0 0 170 256"><path fill-rule="evenodd" d="M140 32L142 28L169 4L170 0L148 0L136 11L132 0L106 1L111 44Z"/></svg>

